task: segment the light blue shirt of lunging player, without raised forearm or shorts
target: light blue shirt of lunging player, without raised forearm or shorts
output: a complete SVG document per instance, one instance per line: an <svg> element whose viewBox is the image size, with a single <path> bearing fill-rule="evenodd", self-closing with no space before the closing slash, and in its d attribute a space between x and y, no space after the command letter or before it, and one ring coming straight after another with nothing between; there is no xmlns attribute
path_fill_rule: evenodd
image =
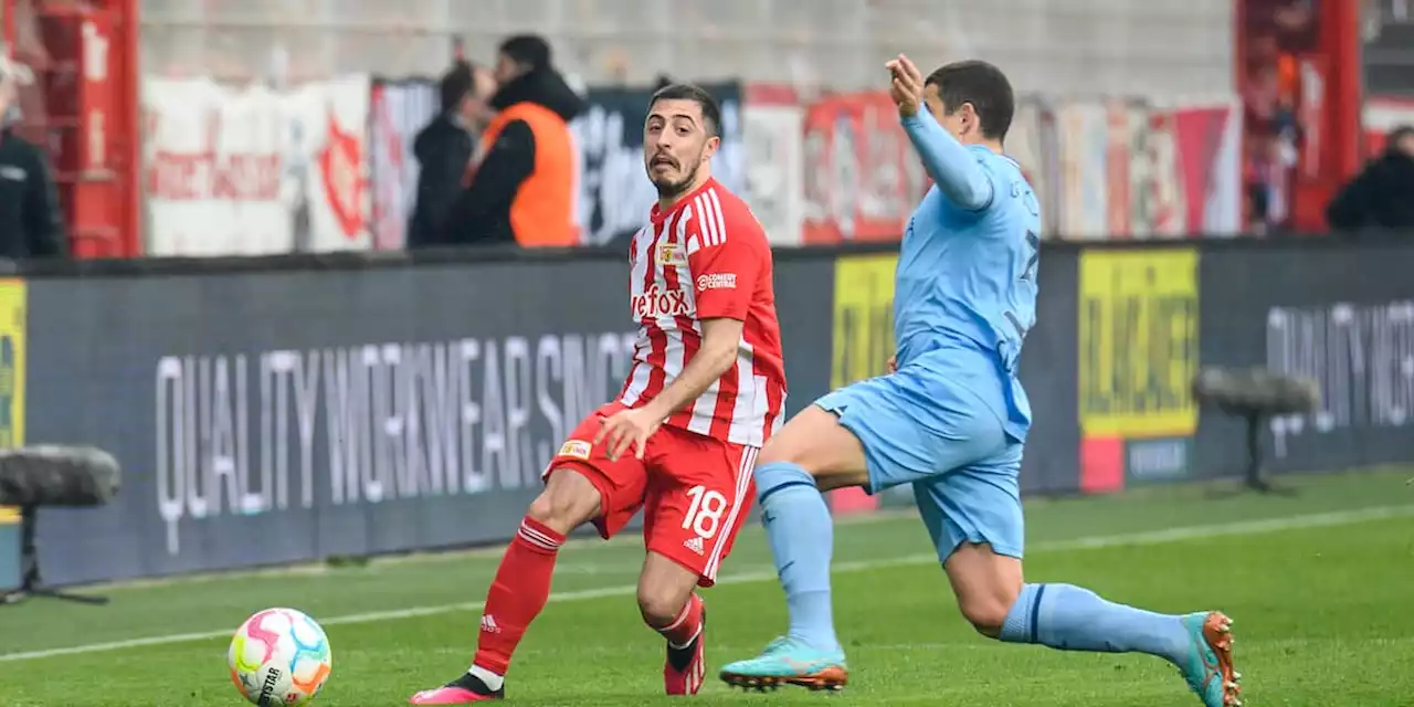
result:
<svg viewBox="0 0 1414 707"><path fill-rule="evenodd" d="M966 150L991 197L969 209L935 185L909 219L894 291L898 363L949 349L949 368L995 370L1005 393L998 413L1021 441L1031 406L1015 372L1036 321L1041 209L1015 161L986 147Z"/></svg>

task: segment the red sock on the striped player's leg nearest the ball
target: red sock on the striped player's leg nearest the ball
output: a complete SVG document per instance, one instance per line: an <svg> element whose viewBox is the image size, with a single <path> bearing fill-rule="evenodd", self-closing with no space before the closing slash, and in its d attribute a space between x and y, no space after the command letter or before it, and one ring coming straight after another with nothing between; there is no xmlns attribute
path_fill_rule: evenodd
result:
<svg viewBox="0 0 1414 707"><path fill-rule="evenodd" d="M477 642L472 665L498 676L506 674L520 636L550 598L550 578L561 544L564 536L543 523L530 518L520 522L520 532L501 559L496 578L486 592L481 641Z"/></svg>

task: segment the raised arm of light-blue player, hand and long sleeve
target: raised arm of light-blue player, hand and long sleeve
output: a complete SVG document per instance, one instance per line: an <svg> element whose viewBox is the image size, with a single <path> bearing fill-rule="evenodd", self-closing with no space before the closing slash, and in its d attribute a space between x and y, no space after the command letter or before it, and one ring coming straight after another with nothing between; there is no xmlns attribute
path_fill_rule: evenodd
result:
<svg viewBox="0 0 1414 707"><path fill-rule="evenodd" d="M933 115L940 113L957 122L956 127L981 134L981 120L973 103L945 106L936 83L926 82L908 57L902 54L888 62L889 96L898 105L904 130L923 158L923 167L939 191L959 208L977 211L988 206L993 197L991 180L957 137L945 129Z"/></svg>

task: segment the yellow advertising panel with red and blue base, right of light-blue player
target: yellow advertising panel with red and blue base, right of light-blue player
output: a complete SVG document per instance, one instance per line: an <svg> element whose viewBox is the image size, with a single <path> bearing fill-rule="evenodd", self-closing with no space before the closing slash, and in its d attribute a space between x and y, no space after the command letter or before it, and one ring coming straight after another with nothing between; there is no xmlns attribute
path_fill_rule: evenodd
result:
<svg viewBox="0 0 1414 707"><path fill-rule="evenodd" d="M1198 250L1080 255L1082 488L1181 478L1198 428Z"/></svg>

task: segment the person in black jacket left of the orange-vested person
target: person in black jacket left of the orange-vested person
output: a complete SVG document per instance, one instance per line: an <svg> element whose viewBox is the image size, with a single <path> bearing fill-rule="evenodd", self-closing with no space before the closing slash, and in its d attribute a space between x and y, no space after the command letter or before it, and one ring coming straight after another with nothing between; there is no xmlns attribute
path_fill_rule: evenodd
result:
<svg viewBox="0 0 1414 707"><path fill-rule="evenodd" d="M407 225L407 247L445 245L443 222L461 192L477 136L491 117L489 99L496 90L488 69L458 61L441 78L441 113L417 133L413 154L417 173L417 204Z"/></svg>

